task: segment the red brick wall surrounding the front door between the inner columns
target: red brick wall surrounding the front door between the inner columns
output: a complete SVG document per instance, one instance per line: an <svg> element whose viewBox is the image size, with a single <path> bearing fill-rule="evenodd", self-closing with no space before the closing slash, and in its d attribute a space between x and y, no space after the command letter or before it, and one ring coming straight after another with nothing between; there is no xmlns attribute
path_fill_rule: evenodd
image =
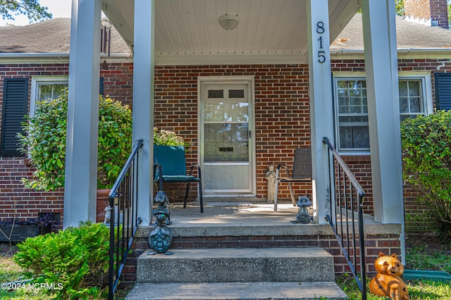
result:
<svg viewBox="0 0 451 300"><path fill-rule="evenodd" d="M155 73L154 126L190 142L187 164L197 163L198 77L254 76L258 199L266 198L268 165L292 165L295 149L310 143L307 65L157 66ZM311 185L298 187L311 194ZM290 197L287 185L280 196Z"/></svg>

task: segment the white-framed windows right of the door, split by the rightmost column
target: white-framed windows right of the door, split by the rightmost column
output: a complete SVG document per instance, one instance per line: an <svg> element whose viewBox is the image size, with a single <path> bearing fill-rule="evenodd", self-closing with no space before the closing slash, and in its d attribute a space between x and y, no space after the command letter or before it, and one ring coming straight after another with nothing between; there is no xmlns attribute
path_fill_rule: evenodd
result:
<svg viewBox="0 0 451 300"><path fill-rule="evenodd" d="M400 120L431 112L432 96L426 87L430 78L399 77ZM368 104L365 77L335 77L335 132L338 150L369 151Z"/></svg>

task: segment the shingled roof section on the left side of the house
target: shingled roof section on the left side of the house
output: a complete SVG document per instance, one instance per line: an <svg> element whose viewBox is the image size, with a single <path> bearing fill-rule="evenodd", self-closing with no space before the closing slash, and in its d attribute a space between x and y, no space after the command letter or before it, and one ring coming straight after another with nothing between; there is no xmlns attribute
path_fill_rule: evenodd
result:
<svg viewBox="0 0 451 300"><path fill-rule="evenodd" d="M26 26L0 27L0 37L0 53L68 54L70 18L54 18ZM130 52L114 29L111 30L111 52Z"/></svg>

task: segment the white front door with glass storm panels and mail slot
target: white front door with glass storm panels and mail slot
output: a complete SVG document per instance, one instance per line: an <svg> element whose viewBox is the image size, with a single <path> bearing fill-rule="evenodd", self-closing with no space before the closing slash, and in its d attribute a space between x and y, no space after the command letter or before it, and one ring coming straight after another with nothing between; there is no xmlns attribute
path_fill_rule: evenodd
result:
<svg viewBox="0 0 451 300"><path fill-rule="evenodd" d="M252 80L200 80L204 194L254 194Z"/></svg>

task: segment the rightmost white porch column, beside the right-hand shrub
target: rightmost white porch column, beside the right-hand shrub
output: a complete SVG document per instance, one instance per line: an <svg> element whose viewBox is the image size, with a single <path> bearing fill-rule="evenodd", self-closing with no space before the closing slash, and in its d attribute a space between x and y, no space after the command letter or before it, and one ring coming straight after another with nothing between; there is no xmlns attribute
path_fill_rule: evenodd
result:
<svg viewBox="0 0 451 300"><path fill-rule="evenodd" d="M395 3L362 1L374 220L402 224L404 206Z"/></svg>

